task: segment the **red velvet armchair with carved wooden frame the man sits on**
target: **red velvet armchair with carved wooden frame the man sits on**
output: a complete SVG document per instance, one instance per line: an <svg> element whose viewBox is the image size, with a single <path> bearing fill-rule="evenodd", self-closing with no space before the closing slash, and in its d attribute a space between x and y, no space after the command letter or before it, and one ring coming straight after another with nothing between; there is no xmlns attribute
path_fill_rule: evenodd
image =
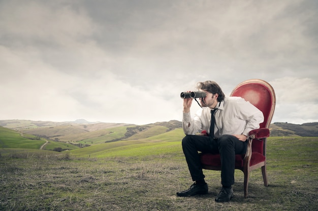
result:
<svg viewBox="0 0 318 211"><path fill-rule="evenodd" d="M266 174L266 138L269 137L269 125L275 110L275 92L272 86L261 79L249 79L241 82L230 96L242 97L255 105L264 114L260 129L249 132L246 154L235 156L235 169L244 173L244 197L248 195L247 186L250 172L262 168L264 186L268 186ZM219 154L201 153L202 167L206 170L221 170Z"/></svg>

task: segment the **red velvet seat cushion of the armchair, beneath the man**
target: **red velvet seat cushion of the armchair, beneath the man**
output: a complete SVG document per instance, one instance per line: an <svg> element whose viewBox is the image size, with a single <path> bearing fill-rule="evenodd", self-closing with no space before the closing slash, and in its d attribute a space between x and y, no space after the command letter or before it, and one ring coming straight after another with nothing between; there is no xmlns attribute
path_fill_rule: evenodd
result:
<svg viewBox="0 0 318 211"><path fill-rule="evenodd" d="M245 154L237 154L235 155L235 167L243 166L243 159ZM200 154L201 163L203 165L210 166L221 166L221 159L219 154L211 154L211 153L201 153ZM259 152L252 152L252 157L249 162L249 166L258 164L260 162L265 161L265 156Z"/></svg>

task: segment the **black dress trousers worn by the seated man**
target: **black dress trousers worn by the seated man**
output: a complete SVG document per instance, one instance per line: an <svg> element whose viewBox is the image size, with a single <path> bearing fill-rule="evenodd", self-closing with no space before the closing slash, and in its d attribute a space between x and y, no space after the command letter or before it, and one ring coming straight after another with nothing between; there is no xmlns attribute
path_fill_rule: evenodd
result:
<svg viewBox="0 0 318 211"><path fill-rule="evenodd" d="M223 186L234 184L235 154L244 154L246 146L247 142L242 142L231 135L223 135L218 139L186 135L182 139L182 149L192 180L198 181L205 177L198 151L219 153L221 158L221 183Z"/></svg>

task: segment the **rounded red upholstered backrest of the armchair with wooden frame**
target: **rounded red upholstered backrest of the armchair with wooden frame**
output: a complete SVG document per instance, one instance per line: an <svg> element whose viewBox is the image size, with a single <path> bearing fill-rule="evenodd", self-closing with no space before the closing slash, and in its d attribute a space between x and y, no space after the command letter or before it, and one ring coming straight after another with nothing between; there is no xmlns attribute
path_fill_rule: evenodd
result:
<svg viewBox="0 0 318 211"><path fill-rule="evenodd" d="M261 79L249 79L241 82L230 96L242 97L260 109L264 114L261 128L269 128L275 110L276 97L272 86Z"/></svg>

